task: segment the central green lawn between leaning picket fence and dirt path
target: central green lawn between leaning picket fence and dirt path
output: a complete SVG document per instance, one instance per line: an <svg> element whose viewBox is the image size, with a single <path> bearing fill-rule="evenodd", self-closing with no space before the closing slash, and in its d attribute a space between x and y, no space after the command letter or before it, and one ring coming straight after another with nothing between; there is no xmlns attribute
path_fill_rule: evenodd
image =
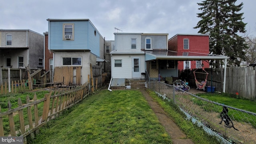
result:
<svg viewBox="0 0 256 144"><path fill-rule="evenodd" d="M170 144L170 136L139 91L102 90L70 108L36 144Z"/></svg>

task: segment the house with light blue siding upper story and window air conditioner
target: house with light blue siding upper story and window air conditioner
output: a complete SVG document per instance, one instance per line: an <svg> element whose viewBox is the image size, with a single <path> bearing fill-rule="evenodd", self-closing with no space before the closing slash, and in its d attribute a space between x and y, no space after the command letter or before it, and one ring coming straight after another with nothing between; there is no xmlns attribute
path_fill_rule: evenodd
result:
<svg viewBox="0 0 256 144"><path fill-rule="evenodd" d="M90 74L90 64L96 65L97 60L104 58L104 38L89 19L47 19L47 21L48 49L54 53L53 68L74 67L73 81L71 78L68 83L86 83ZM75 78L77 67L82 68L81 79Z"/></svg>

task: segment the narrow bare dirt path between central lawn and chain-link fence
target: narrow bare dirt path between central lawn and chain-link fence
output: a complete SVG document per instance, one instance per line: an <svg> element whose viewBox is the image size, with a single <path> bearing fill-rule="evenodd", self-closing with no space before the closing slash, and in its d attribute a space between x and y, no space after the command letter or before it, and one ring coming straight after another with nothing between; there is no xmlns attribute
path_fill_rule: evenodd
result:
<svg viewBox="0 0 256 144"><path fill-rule="evenodd" d="M158 120L164 126L174 144L194 144L191 139L180 130L180 128L173 122L173 120L167 116L164 110L158 105L157 102L149 96L145 90L140 90L143 96L146 98L151 109L155 112Z"/></svg>

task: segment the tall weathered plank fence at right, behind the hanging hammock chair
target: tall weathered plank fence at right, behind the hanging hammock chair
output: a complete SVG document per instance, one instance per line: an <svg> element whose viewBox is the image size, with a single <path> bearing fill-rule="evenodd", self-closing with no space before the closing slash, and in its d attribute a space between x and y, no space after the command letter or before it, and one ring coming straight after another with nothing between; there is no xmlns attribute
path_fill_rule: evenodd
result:
<svg viewBox="0 0 256 144"><path fill-rule="evenodd" d="M208 72L206 86L215 87L215 91L223 92L224 68L205 68ZM183 78L186 78L189 85L196 88L194 70L184 71ZM206 74L196 73L196 80L205 81ZM228 67L226 71L226 87L228 94L236 94L250 100L256 99L256 76L254 68L249 67Z"/></svg>

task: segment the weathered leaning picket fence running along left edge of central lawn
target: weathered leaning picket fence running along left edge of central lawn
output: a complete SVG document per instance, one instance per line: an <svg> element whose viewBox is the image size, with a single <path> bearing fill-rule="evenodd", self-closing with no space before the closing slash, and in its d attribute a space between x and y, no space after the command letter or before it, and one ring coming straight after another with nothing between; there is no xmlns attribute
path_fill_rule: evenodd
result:
<svg viewBox="0 0 256 144"><path fill-rule="evenodd" d="M77 104L88 94L88 85L83 85L76 86L71 90L69 88L61 88L55 90L55 92L51 91L49 94L45 94L45 97L41 100L37 100L35 94L33 102L30 102L29 97L26 98L26 104L22 104L19 98L19 106L14 109L12 109L9 101L8 111L1 112L0 107L0 136L17 136L18 134L24 138L24 143L26 144L27 136L34 138L34 134L38 134L39 128L44 126L46 122L58 116L63 110ZM43 103L43 108L39 107L41 103ZM32 108L34 111L32 111ZM39 112L40 109L42 109L42 113ZM14 117L19 118L19 124L17 122L15 124ZM8 121L9 126L4 126L3 121Z"/></svg>

